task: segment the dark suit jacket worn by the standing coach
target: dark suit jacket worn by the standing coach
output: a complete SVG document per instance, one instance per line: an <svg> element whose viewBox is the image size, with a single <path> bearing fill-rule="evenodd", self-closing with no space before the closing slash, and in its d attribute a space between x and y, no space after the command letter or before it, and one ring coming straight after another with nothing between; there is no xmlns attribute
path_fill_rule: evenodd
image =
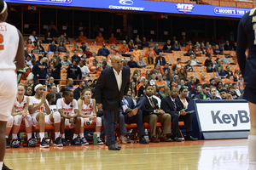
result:
<svg viewBox="0 0 256 170"><path fill-rule="evenodd" d="M123 67L122 86L119 91L113 67L109 67L101 72L95 87L96 104L102 104L103 109L115 111L121 106L123 96L127 94L130 85L130 68Z"/></svg>

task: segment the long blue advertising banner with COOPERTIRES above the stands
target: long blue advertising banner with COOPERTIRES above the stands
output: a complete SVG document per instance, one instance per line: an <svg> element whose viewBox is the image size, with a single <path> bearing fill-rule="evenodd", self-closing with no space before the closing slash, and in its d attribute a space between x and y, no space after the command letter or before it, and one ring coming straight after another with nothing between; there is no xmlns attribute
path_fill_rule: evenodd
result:
<svg viewBox="0 0 256 170"><path fill-rule="evenodd" d="M229 8L190 3L166 3L146 0L5 0L6 3L32 3L81 8L106 8L170 14L241 18L250 8Z"/></svg>

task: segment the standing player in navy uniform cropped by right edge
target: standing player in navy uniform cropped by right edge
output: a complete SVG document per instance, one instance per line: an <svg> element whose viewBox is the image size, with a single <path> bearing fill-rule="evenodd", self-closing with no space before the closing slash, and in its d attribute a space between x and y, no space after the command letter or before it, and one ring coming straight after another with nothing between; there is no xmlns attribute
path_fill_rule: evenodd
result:
<svg viewBox="0 0 256 170"><path fill-rule="evenodd" d="M249 42L249 54L245 51ZM237 60L246 85L243 99L250 110L251 130L248 137L249 170L256 169L256 8L241 18L237 35Z"/></svg>

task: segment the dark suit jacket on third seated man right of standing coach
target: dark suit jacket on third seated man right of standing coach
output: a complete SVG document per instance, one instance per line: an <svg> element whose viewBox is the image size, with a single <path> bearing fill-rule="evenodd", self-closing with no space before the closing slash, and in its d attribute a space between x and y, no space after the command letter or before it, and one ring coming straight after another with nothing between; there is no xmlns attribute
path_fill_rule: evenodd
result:
<svg viewBox="0 0 256 170"><path fill-rule="evenodd" d="M170 95L166 96L165 98L163 98L161 100L161 109L164 110L166 113L169 113L171 116L173 114L178 114L179 111L181 111L183 109L181 107L181 105L179 104L177 98L175 98L174 101L175 101L175 105L176 105L176 111L174 110L173 102L172 102Z"/></svg>

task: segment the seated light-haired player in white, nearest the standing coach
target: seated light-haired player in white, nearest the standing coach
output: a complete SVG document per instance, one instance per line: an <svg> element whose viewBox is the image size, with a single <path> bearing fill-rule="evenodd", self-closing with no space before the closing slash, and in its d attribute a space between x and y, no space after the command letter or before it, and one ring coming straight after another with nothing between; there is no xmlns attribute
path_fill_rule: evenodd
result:
<svg viewBox="0 0 256 170"><path fill-rule="evenodd" d="M97 117L96 115L96 101L91 99L91 91L89 88L84 89L78 100L79 105L79 116L81 117L81 129L80 129L80 138L84 138L84 125L88 126L90 123L96 124L96 133L97 133L97 143L103 144L102 139L100 138L101 129L102 129L102 118ZM87 143L87 141L86 141ZM88 144L88 143L87 143Z"/></svg>

